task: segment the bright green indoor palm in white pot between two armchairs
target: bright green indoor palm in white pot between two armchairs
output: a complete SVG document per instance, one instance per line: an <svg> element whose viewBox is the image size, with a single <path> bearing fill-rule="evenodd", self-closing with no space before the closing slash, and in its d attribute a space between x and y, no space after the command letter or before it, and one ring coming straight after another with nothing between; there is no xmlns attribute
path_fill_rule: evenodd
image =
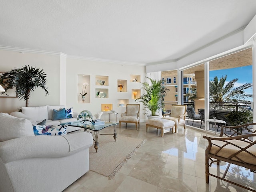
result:
<svg viewBox="0 0 256 192"><path fill-rule="evenodd" d="M162 86L162 79L154 80L150 77L146 78L150 80L150 83L142 83L141 89L144 90L144 93L135 101L141 102L144 105L145 114L148 114L148 117L160 117L156 113L159 109L164 108L164 96L166 96L166 91L170 90Z"/></svg>

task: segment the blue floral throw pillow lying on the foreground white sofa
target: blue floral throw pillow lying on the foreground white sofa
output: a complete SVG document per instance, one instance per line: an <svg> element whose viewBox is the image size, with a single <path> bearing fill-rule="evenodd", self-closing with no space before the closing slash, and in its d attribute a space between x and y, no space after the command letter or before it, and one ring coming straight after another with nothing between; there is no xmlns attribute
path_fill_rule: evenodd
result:
<svg viewBox="0 0 256 192"><path fill-rule="evenodd" d="M33 125L35 135L67 135L68 125Z"/></svg>

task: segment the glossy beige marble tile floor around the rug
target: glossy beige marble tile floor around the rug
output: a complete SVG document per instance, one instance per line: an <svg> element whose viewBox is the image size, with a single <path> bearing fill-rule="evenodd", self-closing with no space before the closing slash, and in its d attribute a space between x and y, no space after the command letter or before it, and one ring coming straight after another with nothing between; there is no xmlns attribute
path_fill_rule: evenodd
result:
<svg viewBox="0 0 256 192"><path fill-rule="evenodd" d="M112 128L104 132L112 133ZM118 135L146 139L147 142L126 162L121 171L109 180L98 173L88 171L63 192L247 192L242 188L222 182L210 176L205 182L205 148L208 142L202 138L204 131L183 126L178 133L165 133L159 137L155 128L146 133L145 123L135 130L134 124L122 124ZM106 135L100 137L110 137ZM118 138L117 138L118 139ZM99 148L100 150L100 148ZM227 164L220 164L220 174ZM240 180L252 180L256 174L232 165L232 171L238 170ZM216 164L210 172L218 171ZM236 180L239 182L239 180ZM244 182L244 181L242 181Z"/></svg>

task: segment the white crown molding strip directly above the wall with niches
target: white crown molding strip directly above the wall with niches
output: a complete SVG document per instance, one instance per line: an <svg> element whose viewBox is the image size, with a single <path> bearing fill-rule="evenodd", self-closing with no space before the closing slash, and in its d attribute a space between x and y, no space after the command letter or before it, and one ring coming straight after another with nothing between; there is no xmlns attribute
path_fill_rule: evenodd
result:
<svg viewBox="0 0 256 192"><path fill-rule="evenodd" d="M124 65L139 65L139 66L146 66L146 63L138 63L138 62L129 62L129 61L118 61L118 60L110 60L110 59L100 59L95 57L83 57L83 56L76 56L76 55L68 55L67 58L69 59L82 59L87 61L100 61L106 63L117 63L117 64L124 64Z"/></svg>

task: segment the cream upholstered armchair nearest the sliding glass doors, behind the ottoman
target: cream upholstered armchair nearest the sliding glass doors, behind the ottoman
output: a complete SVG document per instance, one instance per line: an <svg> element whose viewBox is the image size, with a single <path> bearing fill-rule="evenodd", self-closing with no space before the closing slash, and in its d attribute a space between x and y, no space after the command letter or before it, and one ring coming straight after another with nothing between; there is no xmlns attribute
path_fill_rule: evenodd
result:
<svg viewBox="0 0 256 192"><path fill-rule="evenodd" d="M174 121L176 133L178 125L183 125L184 129L186 129L186 110L187 105L172 105L171 117L163 117L162 119L169 119Z"/></svg>

